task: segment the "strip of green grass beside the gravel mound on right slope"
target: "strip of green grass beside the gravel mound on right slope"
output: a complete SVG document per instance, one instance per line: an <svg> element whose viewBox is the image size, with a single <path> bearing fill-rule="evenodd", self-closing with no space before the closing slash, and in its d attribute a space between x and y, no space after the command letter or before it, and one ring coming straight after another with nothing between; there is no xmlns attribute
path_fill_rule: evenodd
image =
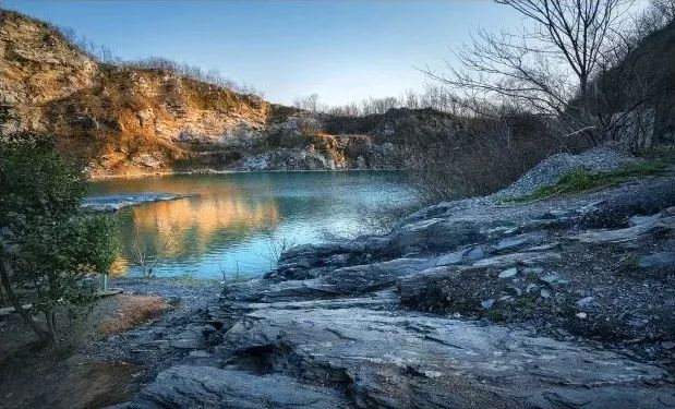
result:
<svg viewBox="0 0 675 409"><path fill-rule="evenodd" d="M541 201L557 195L576 194L599 188L613 187L632 178L662 175L666 170L667 166L658 161L644 161L628 165L620 169L607 172L575 169L563 175L553 184L539 188L534 192L523 196L505 199L503 203L521 204Z"/></svg>

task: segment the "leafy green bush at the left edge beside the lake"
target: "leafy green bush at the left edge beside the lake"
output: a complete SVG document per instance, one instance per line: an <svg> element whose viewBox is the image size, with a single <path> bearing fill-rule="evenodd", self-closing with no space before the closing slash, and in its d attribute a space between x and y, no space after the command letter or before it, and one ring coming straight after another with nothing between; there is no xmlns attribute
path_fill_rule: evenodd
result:
<svg viewBox="0 0 675 409"><path fill-rule="evenodd" d="M0 139L0 192L2 287L36 334L58 344L57 312L89 305L92 278L107 274L114 260L113 221L83 209L85 173L43 136ZM37 313L46 328L33 320Z"/></svg>

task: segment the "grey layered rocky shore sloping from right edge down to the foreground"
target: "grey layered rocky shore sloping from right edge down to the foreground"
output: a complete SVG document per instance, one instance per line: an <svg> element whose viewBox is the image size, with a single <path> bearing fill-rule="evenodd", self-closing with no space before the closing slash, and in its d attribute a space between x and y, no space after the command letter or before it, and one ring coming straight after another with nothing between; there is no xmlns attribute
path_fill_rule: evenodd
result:
<svg viewBox="0 0 675 409"><path fill-rule="evenodd" d="M181 354L120 407L675 407L672 171L505 204L518 183L291 249L190 337L143 329Z"/></svg>

